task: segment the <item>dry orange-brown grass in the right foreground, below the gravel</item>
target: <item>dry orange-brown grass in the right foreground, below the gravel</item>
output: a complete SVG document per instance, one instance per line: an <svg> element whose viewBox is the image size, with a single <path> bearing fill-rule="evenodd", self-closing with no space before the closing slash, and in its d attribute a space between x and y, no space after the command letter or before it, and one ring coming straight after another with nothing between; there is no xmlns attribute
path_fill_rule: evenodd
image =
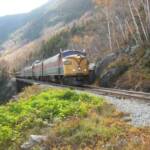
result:
<svg viewBox="0 0 150 150"><path fill-rule="evenodd" d="M56 123L45 144L49 149L147 150L150 129L128 125L121 120L122 113L111 105L107 108L110 110L93 110L84 118Z"/></svg>

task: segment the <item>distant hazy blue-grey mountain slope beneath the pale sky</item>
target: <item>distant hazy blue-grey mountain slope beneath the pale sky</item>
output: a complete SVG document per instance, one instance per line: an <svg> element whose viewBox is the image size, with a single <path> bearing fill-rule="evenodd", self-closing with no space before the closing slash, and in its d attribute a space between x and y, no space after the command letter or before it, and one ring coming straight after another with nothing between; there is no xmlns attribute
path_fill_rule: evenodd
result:
<svg viewBox="0 0 150 150"><path fill-rule="evenodd" d="M91 8L91 0L56 0L28 14L0 18L3 29L0 31L0 47L4 50L21 47L39 38L46 28L67 24Z"/></svg>

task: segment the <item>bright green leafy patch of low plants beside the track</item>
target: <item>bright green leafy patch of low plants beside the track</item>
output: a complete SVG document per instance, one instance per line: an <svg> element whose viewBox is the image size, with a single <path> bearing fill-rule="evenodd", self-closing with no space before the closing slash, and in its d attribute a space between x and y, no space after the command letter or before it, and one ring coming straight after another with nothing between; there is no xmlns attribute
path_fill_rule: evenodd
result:
<svg viewBox="0 0 150 150"><path fill-rule="evenodd" d="M19 101L0 106L0 147L10 146L14 141L19 144L35 127L45 127L70 116L82 117L104 104L100 98L72 90L49 89L39 94L33 91L36 94L30 98L27 95L28 99L21 94Z"/></svg>

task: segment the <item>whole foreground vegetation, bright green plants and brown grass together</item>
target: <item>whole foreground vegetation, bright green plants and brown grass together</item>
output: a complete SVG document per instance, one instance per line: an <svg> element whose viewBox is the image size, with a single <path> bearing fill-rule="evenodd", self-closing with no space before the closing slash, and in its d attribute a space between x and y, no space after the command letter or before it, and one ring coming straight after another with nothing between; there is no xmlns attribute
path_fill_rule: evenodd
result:
<svg viewBox="0 0 150 150"><path fill-rule="evenodd" d="M101 97L28 87L18 101L0 106L0 150L20 150L31 134L48 135L42 143L48 149L145 150L150 129L135 128L123 116Z"/></svg>

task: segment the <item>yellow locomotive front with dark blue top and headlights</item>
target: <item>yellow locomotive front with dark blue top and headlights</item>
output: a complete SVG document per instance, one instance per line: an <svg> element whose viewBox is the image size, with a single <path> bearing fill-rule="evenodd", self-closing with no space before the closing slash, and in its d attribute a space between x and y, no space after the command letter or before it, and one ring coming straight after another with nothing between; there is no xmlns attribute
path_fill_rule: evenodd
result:
<svg viewBox="0 0 150 150"><path fill-rule="evenodd" d="M89 62L85 52L64 51L63 55L63 79L70 83L85 83L89 75Z"/></svg>

